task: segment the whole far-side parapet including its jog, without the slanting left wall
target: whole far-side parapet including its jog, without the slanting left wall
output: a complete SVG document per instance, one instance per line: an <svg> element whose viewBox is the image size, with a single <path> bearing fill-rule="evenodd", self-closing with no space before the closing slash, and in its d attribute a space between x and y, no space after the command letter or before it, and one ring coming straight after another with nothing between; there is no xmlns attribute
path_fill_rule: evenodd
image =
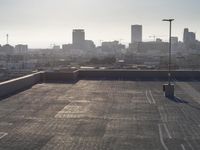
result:
<svg viewBox="0 0 200 150"><path fill-rule="evenodd" d="M173 80L200 80L199 71L172 71ZM109 80L168 80L168 71L135 70L77 70L74 72L45 72L42 82L69 82L81 79Z"/></svg>

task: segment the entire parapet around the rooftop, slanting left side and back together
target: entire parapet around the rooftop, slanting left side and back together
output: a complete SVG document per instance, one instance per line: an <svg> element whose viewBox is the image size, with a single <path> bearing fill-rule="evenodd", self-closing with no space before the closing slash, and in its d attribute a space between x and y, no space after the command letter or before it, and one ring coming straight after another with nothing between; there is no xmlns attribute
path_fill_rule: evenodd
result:
<svg viewBox="0 0 200 150"><path fill-rule="evenodd" d="M74 82L82 79L106 80L165 80L167 71L77 70L74 72L38 72L0 83L0 99L25 90L39 82ZM200 80L199 71L173 71L176 80Z"/></svg>

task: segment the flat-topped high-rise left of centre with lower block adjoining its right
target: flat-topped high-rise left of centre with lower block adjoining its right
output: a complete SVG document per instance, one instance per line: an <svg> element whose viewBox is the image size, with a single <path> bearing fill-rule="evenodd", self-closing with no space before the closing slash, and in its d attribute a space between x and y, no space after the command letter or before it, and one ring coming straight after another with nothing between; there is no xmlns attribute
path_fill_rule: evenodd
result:
<svg viewBox="0 0 200 150"><path fill-rule="evenodd" d="M82 49L85 43L85 31L83 29L74 29L72 39L74 48Z"/></svg>

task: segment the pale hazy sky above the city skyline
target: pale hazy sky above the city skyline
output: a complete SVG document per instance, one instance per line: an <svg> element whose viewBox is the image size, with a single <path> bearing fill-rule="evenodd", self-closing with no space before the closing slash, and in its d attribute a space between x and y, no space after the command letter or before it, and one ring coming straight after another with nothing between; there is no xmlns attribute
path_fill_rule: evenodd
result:
<svg viewBox="0 0 200 150"><path fill-rule="evenodd" d="M167 40L168 23L175 18L173 35L182 40L188 27L200 39L199 0L0 0L0 44L50 47L71 43L72 29L83 28L86 39L130 42L131 24L143 25L143 39Z"/></svg>

